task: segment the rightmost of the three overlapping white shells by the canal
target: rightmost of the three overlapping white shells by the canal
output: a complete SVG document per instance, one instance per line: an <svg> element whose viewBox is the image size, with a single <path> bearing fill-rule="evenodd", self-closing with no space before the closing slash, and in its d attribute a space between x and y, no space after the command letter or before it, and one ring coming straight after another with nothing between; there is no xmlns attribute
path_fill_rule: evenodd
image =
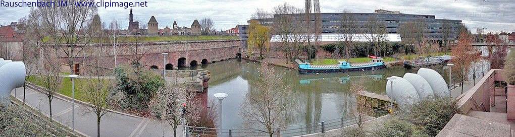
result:
<svg viewBox="0 0 515 137"><path fill-rule="evenodd" d="M435 96L449 96L449 88L447 87L447 83L440 75L440 73L436 72L433 69L420 68L417 74L424 77L427 83L429 83L429 85L433 89L433 93L435 94Z"/></svg>

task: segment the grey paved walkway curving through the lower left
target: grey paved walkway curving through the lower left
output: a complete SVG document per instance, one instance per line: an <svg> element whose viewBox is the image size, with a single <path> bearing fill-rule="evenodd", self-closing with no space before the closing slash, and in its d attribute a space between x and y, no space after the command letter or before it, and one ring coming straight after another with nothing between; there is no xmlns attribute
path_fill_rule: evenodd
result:
<svg viewBox="0 0 515 137"><path fill-rule="evenodd" d="M16 94L16 95L15 95ZM14 89L12 96L20 101L23 100L23 88ZM25 94L25 104L39 110L48 116L48 98L42 92L27 88ZM75 130L87 136L96 136L96 115L94 113L86 113L87 106L75 103ZM72 102L60 99L55 96L52 101L52 112L54 120L60 122L64 126L72 128ZM182 136L182 128L179 127L178 136ZM123 115L119 113L109 112L102 116L100 122L101 136L173 136L173 131L166 123L155 120L136 118L133 116Z"/></svg>

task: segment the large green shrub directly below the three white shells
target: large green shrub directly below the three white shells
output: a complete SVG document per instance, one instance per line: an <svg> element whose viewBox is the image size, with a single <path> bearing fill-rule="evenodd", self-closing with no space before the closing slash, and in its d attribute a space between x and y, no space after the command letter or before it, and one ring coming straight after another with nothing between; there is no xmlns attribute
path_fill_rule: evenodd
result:
<svg viewBox="0 0 515 137"><path fill-rule="evenodd" d="M421 127L424 133L436 136L456 113L461 113L456 100L448 97L426 99L403 110L403 119Z"/></svg>

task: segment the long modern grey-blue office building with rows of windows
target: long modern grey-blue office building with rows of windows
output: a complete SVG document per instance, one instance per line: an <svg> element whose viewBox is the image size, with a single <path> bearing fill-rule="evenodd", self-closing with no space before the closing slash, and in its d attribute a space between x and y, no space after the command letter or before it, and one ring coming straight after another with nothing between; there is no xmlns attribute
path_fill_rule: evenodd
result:
<svg viewBox="0 0 515 137"><path fill-rule="evenodd" d="M422 14L404 14L399 11L388 10L375 10L374 13L346 13L351 14L355 18L356 30L365 30L369 18L375 17L375 20L382 22L387 34L399 34L399 27L407 22L423 21L426 24L424 35L432 40L442 40L444 33L449 34L448 40L455 40L459 33L460 20L454 19L437 19L435 15L422 15ZM273 18L260 19L265 25L272 24L275 18L281 16L291 16L291 18L303 19L304 14L276 14ZM321 16L321 34L338 34L341 26L341 21L344 13L320 13ZM312 15L312 24L315 24L314 14ZM251 20L247 21L250 23ZM243 26L242 26L243 27ZM445 32L444 32L445 31ZM246 45L246 32L240 31L240 36ZM357 31L356 34L364 34L365 32ZM401 37L403 37L401 35Z"/></svg>

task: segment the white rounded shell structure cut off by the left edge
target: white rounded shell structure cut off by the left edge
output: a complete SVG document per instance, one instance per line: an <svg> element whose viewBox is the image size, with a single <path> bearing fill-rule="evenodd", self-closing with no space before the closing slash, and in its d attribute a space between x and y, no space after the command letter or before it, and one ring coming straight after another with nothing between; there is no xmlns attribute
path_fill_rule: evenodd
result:
<svg viewBox="0 0 515 137"><path fill-rule="evenodd" d="M25 64L0 58L0 103L9 103L12 89L22 87L25 82Z"/></svg>

